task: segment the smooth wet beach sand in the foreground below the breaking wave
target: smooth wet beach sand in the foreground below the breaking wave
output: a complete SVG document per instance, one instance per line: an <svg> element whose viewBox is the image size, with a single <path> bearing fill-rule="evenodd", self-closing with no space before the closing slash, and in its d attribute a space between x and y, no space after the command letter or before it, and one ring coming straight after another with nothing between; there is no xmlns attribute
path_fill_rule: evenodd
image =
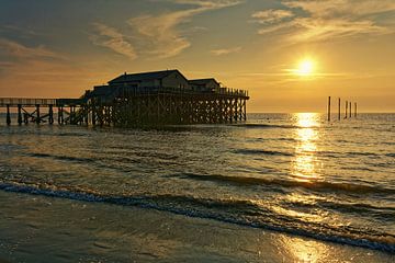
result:
<svg viewBox="0 0 395 263"><path fill-rule="evenodd" d="M0 192L0 262L394 262L395 255L167 211Z"/></svg>

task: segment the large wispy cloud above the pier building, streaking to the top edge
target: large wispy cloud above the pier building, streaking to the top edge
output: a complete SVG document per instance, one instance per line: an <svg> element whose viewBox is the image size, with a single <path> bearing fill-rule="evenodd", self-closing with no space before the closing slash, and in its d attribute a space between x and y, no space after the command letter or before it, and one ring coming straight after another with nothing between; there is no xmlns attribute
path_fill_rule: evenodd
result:
<svg viewBox="0 0 395 263"><path fill-rule="evenodd" d="M126 21L129 25L127 34L103 23L93 23L95 34L90 37L91 41L95 45L108 47L131 59L136 58L139 54L154 58L173 57L191 46L188 38L191 32L196 31L196 28L206 30L205 27L193 26L188 31L181 31L181 24L188 23L196 14L242 2L240 0L163 1L182 5L182 9L132 18Z"/></svg>

